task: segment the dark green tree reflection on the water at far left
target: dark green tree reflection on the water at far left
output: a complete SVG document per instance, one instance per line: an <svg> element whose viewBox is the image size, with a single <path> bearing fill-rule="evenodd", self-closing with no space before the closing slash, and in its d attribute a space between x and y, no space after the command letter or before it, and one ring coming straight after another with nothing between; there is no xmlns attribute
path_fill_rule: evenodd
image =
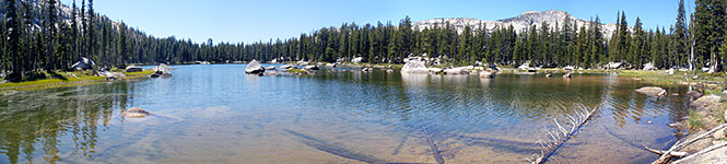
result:
<svg viewBox="0 0 727 164"><path fill-rule="evenodd" d="M115 83L3 93L0 95L2 154L10 163L38 162L38 155L45 162L56 163L61 153L90 157L99 128L109 127L114 112L126 108L132 98L127 94L129 87L133 85ZM72 145L61 145L65 137L72 139ZM59 147L73 149L61 152Z"/></svg>

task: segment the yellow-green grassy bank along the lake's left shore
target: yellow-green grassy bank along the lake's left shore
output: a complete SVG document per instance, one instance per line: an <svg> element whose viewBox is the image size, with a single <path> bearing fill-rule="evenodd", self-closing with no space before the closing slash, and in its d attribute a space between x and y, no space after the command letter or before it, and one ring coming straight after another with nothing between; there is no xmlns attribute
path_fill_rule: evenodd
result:
<svg viewBox="0 0 727 164"><path fill-rule="evenodd" d="M5 90L37 90L47 87L72 86L81 84L95 84L106 82L105 77L97 77L92 71L74 71L74 72L42 72L45 78L24 80L21 82L7 82L0 84L0 91ZM154 73L151 70L141 72L119 72L126 74L122 80L141 79L149 74Z"/></svg>

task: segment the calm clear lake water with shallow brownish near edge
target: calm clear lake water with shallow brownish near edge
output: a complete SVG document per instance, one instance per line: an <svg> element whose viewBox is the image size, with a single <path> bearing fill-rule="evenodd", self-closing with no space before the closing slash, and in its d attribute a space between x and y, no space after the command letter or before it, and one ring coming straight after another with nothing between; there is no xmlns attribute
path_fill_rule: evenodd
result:
<svg viewBox="0 0 727 164"><path fill-rule="evenodd" d="M446 163L527 163L553 118L597 106L550 162L647 163L658 156L635 145L671 144L666 125L687 115L689 101L636 94L648 84L612 74L174 68L171 79L3 92L0 163L436 163L433 149ZM119 116L131 107L154 115Z"/></svg>

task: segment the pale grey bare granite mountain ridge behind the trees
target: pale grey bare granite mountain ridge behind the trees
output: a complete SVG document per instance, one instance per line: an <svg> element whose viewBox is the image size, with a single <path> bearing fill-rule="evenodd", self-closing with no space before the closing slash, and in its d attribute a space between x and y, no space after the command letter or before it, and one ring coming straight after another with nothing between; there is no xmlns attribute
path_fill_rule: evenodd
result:
<svg viewBox="0 0 727 164"><path fill-rule="evenodd" d="M484 21L484 20L478 20L478 19L469 19L469 17L458 17L458 19L432 19L432 20L424 20L424 21L418 21L412 23L412 27L415 30L424 30L424 27L433 27L434 25L438 25L439 27L444 27L444 25L449 22L450 25L457 28L457 32L462 32L466 26L469 26L472 31L477 30L480 27L480 24L484 24L485 28L488 32L492 32L495 30L495 27L508 27L509 25L513 25L515 31L517 33L527 31L530 28L531 25L536 25L538 28L542 25L542 22L547 22L549 24L550 28L554 28L555 25L558 24L559 30L562 28L563 26L563 20L565 17L568 17L571 21L574 21L578 27L581 26L589 26L589 21L587 20L582 20L574 17L573 15L568 14L565 11L560 11L560 10L549 10L549 11L526 11L523 12L523 14L515 16L515 17L509 17L509 19L503 19L503 20L497 20L497 21ZM606 36L606 38L609 38L613 32L617 30L617 24L601 24L601 32Z"/></svg>

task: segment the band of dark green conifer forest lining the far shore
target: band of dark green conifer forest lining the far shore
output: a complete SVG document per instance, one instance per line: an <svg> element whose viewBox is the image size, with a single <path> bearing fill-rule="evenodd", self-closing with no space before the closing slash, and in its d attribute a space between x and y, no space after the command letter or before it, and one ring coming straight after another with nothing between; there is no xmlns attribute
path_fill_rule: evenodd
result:
<svg viewBox="0 0 727 164"><path fill-rule="evenodd" d="M675 11L676 23L655 30L643 28L640 17L628 17L621 11L610 36L603 34L598 15L587 25L566 16L554 27L543 21L521 31L512 24L490 30L481 24L466 25L461 32L449 22L412 27L411 19L404 17L398 24L343 23L288 39L214 44L212 39L194 43L146 35L95 12L93 0L81 0L80 5L73 2L71 7L56 0L4 0L0 35L5 39L0 42L0 69L15 73L67 69L81 57L102 67L121 68L128 63L196 60L335 62L354 57L373 63L401 63L409 55L423 54L454 65L519 65L529 60L542 67L600 68L611 61L625 61L634 69L647 62L668 69L688 67L693 59L696 68L716 69L717 65L707 63L722 63L727 51L725 1L696 0L689 23L681 0ZM629 20L635 20L633 26Z"/></svg>

